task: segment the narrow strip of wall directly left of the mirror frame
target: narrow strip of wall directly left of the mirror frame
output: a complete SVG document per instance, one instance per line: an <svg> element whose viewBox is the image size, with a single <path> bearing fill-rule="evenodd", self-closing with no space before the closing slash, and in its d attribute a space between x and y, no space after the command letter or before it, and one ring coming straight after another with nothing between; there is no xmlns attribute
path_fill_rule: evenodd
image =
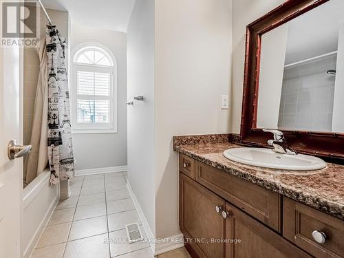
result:
<svg viewBox="0 0 344 258"><path fill-rule="evenodd" d="M240 132L246 25L263 16L285 0L235 0L233 1L233 77L231 98L231 131Z"/></svg>

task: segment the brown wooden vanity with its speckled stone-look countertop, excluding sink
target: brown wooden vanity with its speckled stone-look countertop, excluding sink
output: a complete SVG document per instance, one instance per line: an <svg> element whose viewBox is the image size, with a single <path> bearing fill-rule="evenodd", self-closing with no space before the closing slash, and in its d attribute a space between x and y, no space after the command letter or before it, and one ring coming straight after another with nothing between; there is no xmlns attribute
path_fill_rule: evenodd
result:
<svg viewBox="0 0 344 258"><path fill-rule="evenodd" d="M193 257L343 257L344 166L248 166L223 155L241 145L204 138L175 138L180 230Z"/></svg>

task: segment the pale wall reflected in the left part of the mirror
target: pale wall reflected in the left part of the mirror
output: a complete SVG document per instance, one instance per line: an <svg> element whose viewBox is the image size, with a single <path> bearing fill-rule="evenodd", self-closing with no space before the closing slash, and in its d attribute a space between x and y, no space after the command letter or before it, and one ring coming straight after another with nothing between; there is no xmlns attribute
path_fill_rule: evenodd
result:
<svg viewBox="0 0 344 258"><path fill-rule="evenodd" d="M287 38L288 24L261 37L258 128L277 128L278 125Z"/></svg>

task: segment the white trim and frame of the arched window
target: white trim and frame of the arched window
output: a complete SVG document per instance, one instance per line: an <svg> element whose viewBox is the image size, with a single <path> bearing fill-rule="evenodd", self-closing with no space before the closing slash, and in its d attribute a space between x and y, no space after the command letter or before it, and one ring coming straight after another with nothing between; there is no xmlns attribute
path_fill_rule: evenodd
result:
<svg viewBox="0 0 344 258"><path fill-rule="evenodd" d="M77 58L87 50L98 50L105 54L109 59L111 66L94 65L87 63L74 62ZM110 78L110 94L109 94L109 122L78 122L78 99L101 100L106 99L103 96L80 96L77 93L77 73L78 71L105 72L111 74ZM105 45L89 42L74 47L72 50L72 66L71 66L71 104L72 104L72 133L117 133L117 111L118 111L118 69L117 61L114 54Z"/></svg>

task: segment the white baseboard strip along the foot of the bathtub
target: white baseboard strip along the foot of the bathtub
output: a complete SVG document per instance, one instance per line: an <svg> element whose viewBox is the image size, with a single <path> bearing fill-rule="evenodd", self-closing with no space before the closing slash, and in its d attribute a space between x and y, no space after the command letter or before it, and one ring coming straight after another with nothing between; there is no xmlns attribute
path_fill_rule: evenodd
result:
<svg viewBox="0 0 344 258"><path fill-rule="evenodd" d="M58 189L58 193L59 191L60 190ZM52 217L52 213L54 212L59 200L60 200L60 195L57 194L54 199L54 202L50 204L49 209L45 213L44 219L42 219L41 223L39 224L39 228L37 228L36 232L34 233L34 237L32 237L30 244L27 246L27 248L23 252L23 258L30 258L32 256L32 253L34 252L34 248L36 248L36 245L38 244L39 239L41 238L41 235L43 234L43 230L45 226L47 226L47 223L49 222L50 217Z"/></svg>

